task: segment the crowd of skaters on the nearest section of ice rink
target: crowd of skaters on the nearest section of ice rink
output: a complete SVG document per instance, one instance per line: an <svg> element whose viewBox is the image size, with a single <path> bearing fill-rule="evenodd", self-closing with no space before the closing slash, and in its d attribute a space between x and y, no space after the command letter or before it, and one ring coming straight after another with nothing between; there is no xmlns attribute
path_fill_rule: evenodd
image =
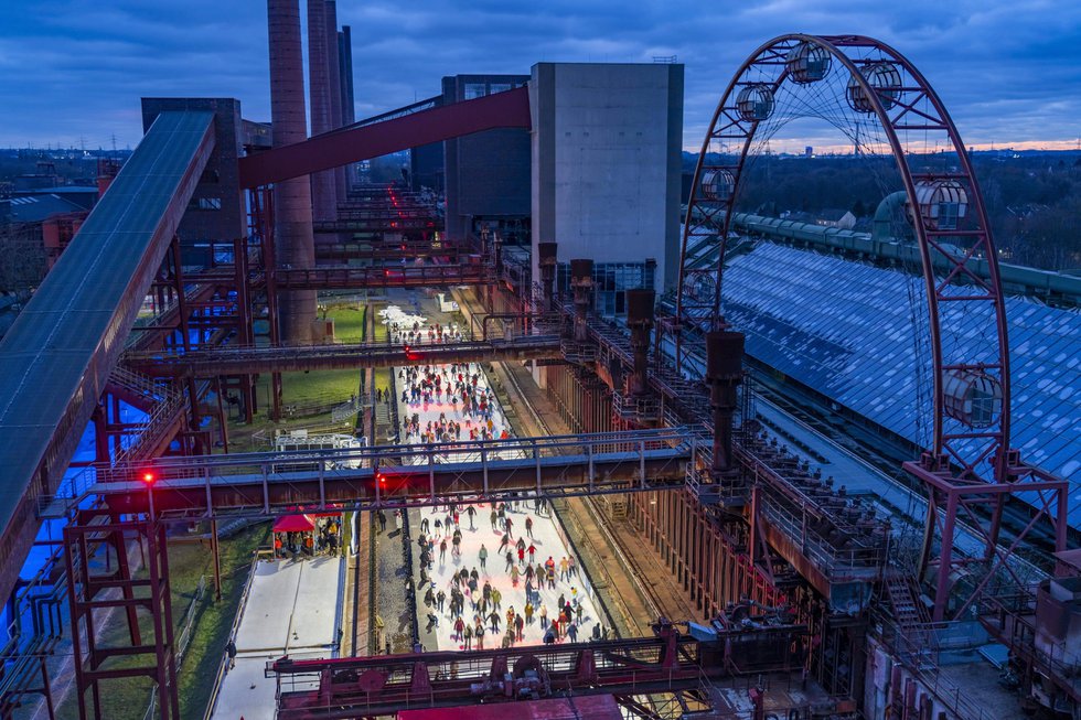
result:
<svg viewBox="0 0 1081 720"><path fill-rule="evenodd" d="M578 590L579 569L575 557L560 555L556 559L554 554L545 555L537 548L533 537L533 515L526 514L522 529L516 529L511 513L528 513L527 504L533 505L535 515L543 516L547 512L544 501L529 499L464 506L449 504L438 508L435 517L421 517L417 537L420 549L417 587L424 589L421 600L427 613L427 632L432 632L440 623L450 623L451 638L462 649L512 647L525 641L526 628L534 623L538 624L542 641L547 644L587 640L582 636L586 622L593 625L592 638L604 635ZM493 545L495 537L500 542L491 550L488 542L482 542L469 558L463 558L463 534L486 531L479 527L482 519L478 517L485 512ZM497 557L493 557L493 552ZM502 569L499 560L503 561ZM432 576L443 574L440 571L448 562L457 569L440 585ZM501 582L497 574L501 571L510 579L510 589L505 581ZM504 590L500 589L501 584ZM545 588L560 591L552 606L540 594Z"/></svg>

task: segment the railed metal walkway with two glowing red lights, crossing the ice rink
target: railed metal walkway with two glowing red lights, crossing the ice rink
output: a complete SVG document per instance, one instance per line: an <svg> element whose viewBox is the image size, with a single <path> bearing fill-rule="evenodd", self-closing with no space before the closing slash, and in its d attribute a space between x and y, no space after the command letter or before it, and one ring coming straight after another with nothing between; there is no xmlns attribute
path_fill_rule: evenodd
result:
<svg viewBox="0 0 1081 720"><path fill-rule="evenodd" d="M165 458L87 473L43 515L103 497L114 513L158 517L271 516L288 511L374 509L451 497L544 497L682 487L698 440L686 428ZM392 462L399 463L389 465ZM376 465L373 468L372 465ZM147 479L152 482L146 482ZM152 507L151 507L152 503Z"/></svg>

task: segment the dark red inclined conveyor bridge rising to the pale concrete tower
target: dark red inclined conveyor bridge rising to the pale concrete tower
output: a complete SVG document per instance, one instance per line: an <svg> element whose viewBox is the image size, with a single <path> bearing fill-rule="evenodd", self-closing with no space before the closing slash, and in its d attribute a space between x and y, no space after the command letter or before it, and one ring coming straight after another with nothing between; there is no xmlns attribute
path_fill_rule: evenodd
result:
<svg viewBox="0 0 1081 720"><path fill-rule="evenodd" d="M240 158L240 186L280 183L473 132L529 127L529 92L520 87Z"/></svg>

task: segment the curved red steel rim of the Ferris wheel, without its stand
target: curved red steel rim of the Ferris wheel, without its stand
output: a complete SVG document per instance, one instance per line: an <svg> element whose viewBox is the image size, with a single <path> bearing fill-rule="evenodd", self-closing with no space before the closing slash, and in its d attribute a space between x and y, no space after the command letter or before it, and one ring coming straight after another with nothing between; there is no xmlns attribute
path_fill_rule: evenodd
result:
<svg viewBox="0 0 1081 720"><path fill-rule="evenodd" d="M934 380L933 436L932 447L928 450L934 458L934 465L939 470L949 468L959 482L1006 482L1010 479L1007 463L1003 461L1009 447L1006 310L997 252L980 187L961 136L939 96L908 58L871 37L781 35L756 50L729 82L703 141L687 205L676 299L676 324L679 329L677 356L682 353L682 342L688 335L694 336L724 324L720 303L721 273L731 211L739 196L748 152L761 125L760 120L746 117L746 112L741 114L738 107L739 93L750 86L762 86L775 94L782 84L795 83L788 58L790 53L804 43L827 53L830 61L839 65L828 72L847 72L852 85L858 87L855 89L850 86L849 92L861 94L859 100L864 110L877 116L908 195L909 217L922 256L927 289ZM868 76L874 75L874 67L884 64L897 71L899 82L887 87L875 87ZM806 77L801 79L811 84ZM956 153L956 168L946 172L913 172L898 135L912 131L923 133L925 143L935 142L938 146L941 142L944 148L952 147ZM714 141L738 144L738 159L730 164L709 164L707 154ZM707 197L704 193L703 180L709 171L730 173L731 192L726 198ZM929 219L922 212L911 211L921 207L921 197L927 202L928 186L933 183L953 183L963 189L970 211L963 224L959 223L955 228L936 227L933 218ZM688 267L688 246L696 241L707 241L714 236L717 259L711 268L715 277L713 298L704 300L700 293L688 291L687 282L702 272L699 268ZM957 252L954 247L963 248L963 251ZM980 260L986 262L986 278L975 268L975 262ZM961 280L964 286L956 283ZM968 351L971 354L967 354L961 343L950 344L944 351L943 330L949 332L951 320L948 309L957 303L988 307L987 314L993 327L985 333L982 352ZM682 356L677 359L682 361ZM952 397L946 397L945 387L948 382L951 387L955 385L953 378L987 378L991 386L997 386L1000 407L993 413L989 422L972 427L957 419L956 402Z"/></svg>

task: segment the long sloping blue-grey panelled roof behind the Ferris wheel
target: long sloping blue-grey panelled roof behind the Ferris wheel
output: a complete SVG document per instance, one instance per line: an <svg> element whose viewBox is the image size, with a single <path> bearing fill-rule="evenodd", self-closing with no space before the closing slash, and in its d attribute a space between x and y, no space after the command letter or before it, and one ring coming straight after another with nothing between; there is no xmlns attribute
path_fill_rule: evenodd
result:
<svg viewBox="0 0 1081 720"><path fill-rule="evenodd" d="M763 241L731 259L723 290L749 355L930 444L930 411L917 412L931 402L922 277ZM1071 481L1070 524L1081 527L1081 313L1008 298L1006 314L1012 445ZM952 343L984 347L980 338L993 332L989 307L949 322Z"/></svg>

